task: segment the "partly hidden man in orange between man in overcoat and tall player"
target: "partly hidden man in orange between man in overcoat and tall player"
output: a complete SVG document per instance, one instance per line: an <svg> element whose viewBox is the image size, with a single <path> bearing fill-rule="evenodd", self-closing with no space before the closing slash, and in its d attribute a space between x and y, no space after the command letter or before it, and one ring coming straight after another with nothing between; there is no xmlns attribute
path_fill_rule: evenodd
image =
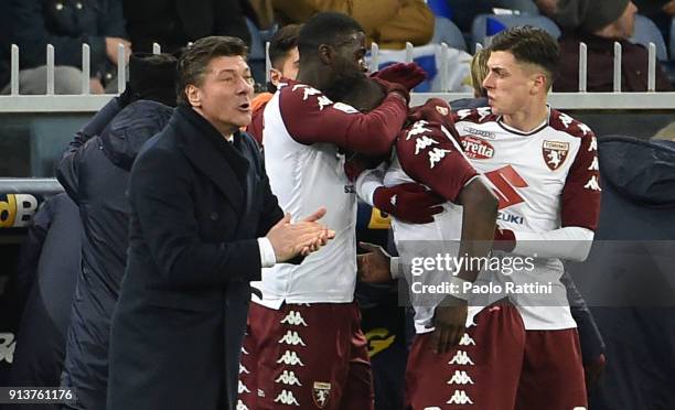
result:
<svg viewBox="0 0 675 410"><path fill-rule="evenodd" d="M271 68L269 71L269 83L267 89L269 93L261 93L251 101L251 121L248 126L248 133L262 145L262 111L265 106L271 99L272 93L277 91L277 85L281 78L296 79L298 69L300 68L300 54L298 53L298 33L300 33L300 24L290 24L281 28L269 42L269 61Z"/></svg>

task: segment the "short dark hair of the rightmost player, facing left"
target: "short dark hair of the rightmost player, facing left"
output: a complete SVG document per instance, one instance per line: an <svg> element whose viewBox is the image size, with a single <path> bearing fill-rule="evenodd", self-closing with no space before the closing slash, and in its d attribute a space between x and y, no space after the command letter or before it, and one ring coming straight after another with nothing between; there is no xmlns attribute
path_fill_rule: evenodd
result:
<svg viewBox="0 0 675 410"><path fill-rule="evenodd" d="M535 64L544 68L549 88L558 74L560 47L544 29L532 25L506 29L492 39L489 50L510 52L521 63Z"/></svg>

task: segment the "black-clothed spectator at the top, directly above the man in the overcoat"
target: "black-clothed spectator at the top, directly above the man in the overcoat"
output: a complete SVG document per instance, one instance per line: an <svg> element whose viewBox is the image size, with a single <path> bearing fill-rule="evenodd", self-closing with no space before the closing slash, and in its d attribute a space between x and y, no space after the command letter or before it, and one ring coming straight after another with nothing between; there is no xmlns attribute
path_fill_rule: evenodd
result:
<svg viewBox="0 0 675 410"><path fill-rule="evenodd" d="M174 53L208 35L232 35L250 46L246 18L256 21L256 14L248 0L119 1L136 52L151 53L158 43L162 52Z"/></svg>

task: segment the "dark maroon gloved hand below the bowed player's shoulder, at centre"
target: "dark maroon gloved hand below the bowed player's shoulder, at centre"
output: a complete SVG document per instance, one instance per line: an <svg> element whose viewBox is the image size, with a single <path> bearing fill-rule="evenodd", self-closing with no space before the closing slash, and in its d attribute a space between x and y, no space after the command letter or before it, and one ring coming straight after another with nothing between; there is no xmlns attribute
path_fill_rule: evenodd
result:
<svg viewBox="0 0 675 410"><path fill-rule="evenodd" d="M429 224L433 215L443 212L446 202L420 184L407 183L390 187L381 186L373 194L375 207L411 224Z"/></svg>

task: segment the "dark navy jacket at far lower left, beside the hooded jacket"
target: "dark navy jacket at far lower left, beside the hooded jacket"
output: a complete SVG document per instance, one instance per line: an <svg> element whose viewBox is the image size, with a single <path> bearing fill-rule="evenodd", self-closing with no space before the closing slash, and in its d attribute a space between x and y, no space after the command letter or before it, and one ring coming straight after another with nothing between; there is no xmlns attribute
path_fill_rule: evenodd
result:
<svg viewBox="0 0 675 410"><path fill-rule="evenodd" d="M14 363L7 386L60 384L71 303L79 271L81 231L77 206L66 194L51 197L35 214L29 240L22 248L22 256L33 259L34 263L22 263L20 272L31 277L25 278L25 282L31 282L32 287L17 335ZM12 409L23 408L57 410L61 406L12 406Z"/></svg>

